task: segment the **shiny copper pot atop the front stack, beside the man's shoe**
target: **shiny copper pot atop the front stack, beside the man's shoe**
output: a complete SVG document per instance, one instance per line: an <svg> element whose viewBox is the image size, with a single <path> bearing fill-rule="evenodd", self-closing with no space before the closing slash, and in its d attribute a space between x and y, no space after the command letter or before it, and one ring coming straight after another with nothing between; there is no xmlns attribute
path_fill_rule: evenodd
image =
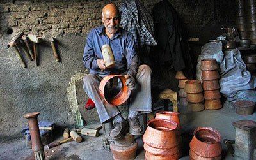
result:
<svg viewBox="0 0 256 160"><path fill-rule="evenodd" d="M171 149L177 146L175 129L177 123L167 119L151 119L147 122L143 142L157 149Z"/></svg>

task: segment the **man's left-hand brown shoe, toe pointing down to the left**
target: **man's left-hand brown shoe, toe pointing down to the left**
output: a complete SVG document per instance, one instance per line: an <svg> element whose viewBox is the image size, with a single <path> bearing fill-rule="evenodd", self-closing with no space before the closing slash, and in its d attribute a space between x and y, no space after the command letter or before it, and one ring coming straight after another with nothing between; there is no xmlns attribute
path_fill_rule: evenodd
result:
<svg viewBox="0 0 256 160"><path fill-rule="evenodd" d="M126 121L116 122L109 133L108 141L117 140L127 132L128 132L128 126Z"/></svg>

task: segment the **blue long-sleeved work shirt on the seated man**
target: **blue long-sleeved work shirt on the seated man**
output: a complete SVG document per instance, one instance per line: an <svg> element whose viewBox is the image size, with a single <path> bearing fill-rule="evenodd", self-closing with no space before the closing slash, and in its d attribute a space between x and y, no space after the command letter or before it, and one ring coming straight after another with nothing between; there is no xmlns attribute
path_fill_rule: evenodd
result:
<svg viewBox="0 0 256 160"><path fill-rule="evenodd" d="M101 47L105 44L112 48L115 66L101 71L97 66L97 59L103 59ZM127 75L135 76L138 68L138 56L132 34L120 27L115 36L109 39L104 26L92 29L86 38L83 63L92 74L118 75L127 71Z"/></svg>

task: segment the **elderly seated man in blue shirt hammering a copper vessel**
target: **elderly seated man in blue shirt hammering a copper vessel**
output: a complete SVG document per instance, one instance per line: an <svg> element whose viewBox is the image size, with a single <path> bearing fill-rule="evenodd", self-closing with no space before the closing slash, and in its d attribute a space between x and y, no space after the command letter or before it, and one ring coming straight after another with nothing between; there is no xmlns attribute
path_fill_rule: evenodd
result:
<svg viewBox="0 0 256 160"><path fill-rule="evenodd" d="M102 10L104 26L94 28L88 33L84 48L83 63L90 69L90 74L84 76L83 87L86 94L95 103L100 122L114 121L108 140L121 138L128 129L132 135L143 135L138 112L149 113L151 108L151 75L147 65L138 67L138 56L132 34L125 31L120 24L120 14L114 4L107 4ZM115 57L115 66L106 68L101 47L108 44ZM129 114L125 120L117 106L109 105L100 96L99 84L106 75L124 75L125 85L131 90L129 98Z"/></svg>

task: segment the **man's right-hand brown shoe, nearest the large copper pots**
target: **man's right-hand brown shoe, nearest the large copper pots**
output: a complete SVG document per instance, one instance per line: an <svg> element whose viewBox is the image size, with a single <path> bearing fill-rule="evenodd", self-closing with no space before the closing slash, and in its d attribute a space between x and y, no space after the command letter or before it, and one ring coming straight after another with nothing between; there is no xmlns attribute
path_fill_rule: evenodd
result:
<svg viewBox="0 0 256 160"><path fill-rule="evenodd" d="M134 135L134 136L143 135L143 130L142 130L142 127L141 127L140 122L137 117L129 118L128 122L129 122L130 133L132 135Z"/></svg>

